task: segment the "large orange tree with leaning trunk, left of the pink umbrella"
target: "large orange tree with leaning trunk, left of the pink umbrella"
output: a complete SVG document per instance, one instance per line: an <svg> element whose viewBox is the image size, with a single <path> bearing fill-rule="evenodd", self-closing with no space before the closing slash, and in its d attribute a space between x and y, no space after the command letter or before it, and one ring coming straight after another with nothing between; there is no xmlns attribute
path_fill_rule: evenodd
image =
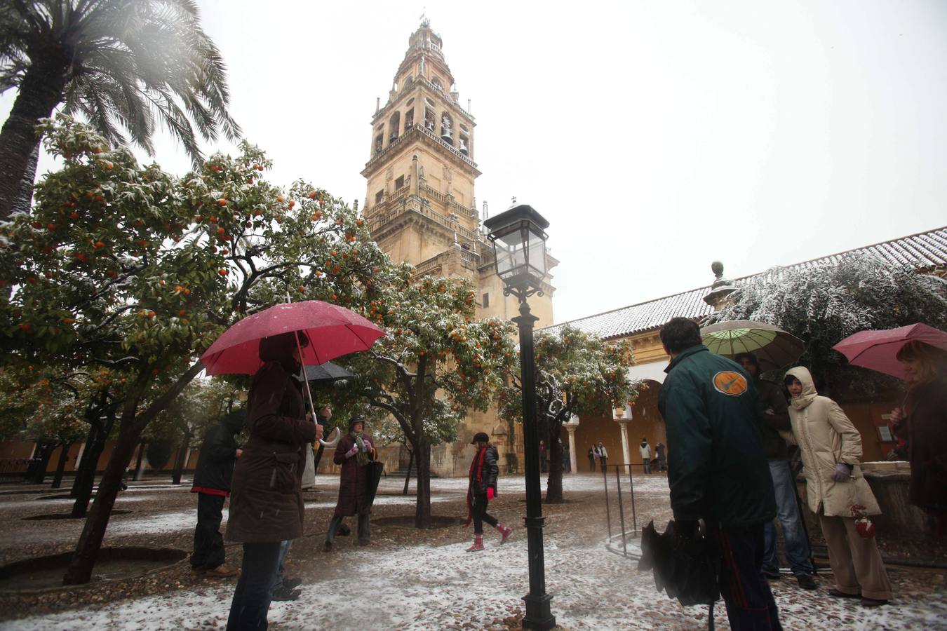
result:
<svg viewBox="0 0 947 631"><path fill-rule="evenodd" d="M266 182L269 162L245 143L176 178L68 118L41 127L63 168L3 226L0 344L21 360L107 369L121 400L116 447L64 578L74 584L91 575L142 430L201 372L209 343L288 291L367 301L387 258L325 191Z"/></svg>

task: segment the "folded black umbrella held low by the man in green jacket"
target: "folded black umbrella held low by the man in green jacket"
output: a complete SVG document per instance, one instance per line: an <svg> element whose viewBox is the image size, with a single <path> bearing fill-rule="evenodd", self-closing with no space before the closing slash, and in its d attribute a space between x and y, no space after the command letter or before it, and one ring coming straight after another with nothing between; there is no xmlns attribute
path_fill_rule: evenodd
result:
<svg viewBox="0 0 947 631"><path fill-rule="evenodd" d="M710 605L709 628L713 628L713 604L720 597L717 560L705 536L686 539L676 535L674 521L664 533L654 530L654 520L641 532L638 570L653 570L654 586L681 605Z"/></svg>

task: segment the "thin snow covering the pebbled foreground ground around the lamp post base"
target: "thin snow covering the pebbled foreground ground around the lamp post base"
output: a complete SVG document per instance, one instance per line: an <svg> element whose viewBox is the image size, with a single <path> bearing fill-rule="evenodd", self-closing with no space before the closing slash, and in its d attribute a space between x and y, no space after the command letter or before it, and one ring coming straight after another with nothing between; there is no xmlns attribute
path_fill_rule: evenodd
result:
<svg viewBox="0 0 947 631"><path fill-rule="evenodd" d="M464 552L467 544L412 548L378 554L350 549L345 570L303 586L295 603L274 603L270 622L280 629L418 629L496 624L521 607L527 591L527 546L522 530L505 546L488 535L487 552ZM648 573L604 552L603 541L587 546L545 547L546 588L566 629L706 628L706 607L681 607L654 591ZM902 599L867 610L824 592L777 583L775 592L787 629L932 629L947 624L944 594ZM0 629L194 629L223 626L233 585L171 592L122 603L0 624ZM726 628L723 605L716 622Z"/></svg>

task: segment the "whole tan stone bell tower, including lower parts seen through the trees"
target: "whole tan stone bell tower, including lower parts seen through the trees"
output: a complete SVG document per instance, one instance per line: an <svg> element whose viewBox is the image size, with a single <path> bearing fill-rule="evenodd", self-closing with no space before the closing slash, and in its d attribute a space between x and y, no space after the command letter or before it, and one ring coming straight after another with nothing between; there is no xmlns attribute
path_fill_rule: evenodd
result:
<svg viewBox="0 0 947 631"><path fill-rule="evenodd" d="M443 42L425 20L408 38L387 102L382 105L379 99L375 105L369 158L362 170L367 180L362 215L371 237L393 260L411 263L418 276L473 281L477 317L509 319L519 307L515 298L503 295L492 246L480 225L474 199L480 175L474 162L476 123L468 110L469 103L468 109L460 104ZM546 269L556 263L550 256ZM553 324L553 291L547 285L544 296L529 300L540 318L537 328ZM456 444L432 452L438 474L466 473L470 459L464 449L476 431L490 433L505 460L505 449L512 448L507 424L495 410L474 412L465 418Z"/></svg>

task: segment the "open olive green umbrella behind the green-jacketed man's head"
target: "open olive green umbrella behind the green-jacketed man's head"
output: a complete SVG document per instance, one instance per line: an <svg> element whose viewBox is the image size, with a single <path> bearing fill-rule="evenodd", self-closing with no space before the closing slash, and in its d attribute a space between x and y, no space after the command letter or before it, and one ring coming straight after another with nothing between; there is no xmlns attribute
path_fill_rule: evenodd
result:
<svg viewBox="0 0 947 631"><path fill-rule="evenodd" d="M806 350L805 342L778 326L752 320L731 320L701 329L704 345L712 353L733 358L753 353L762 370L775 370L793 363Z"/></svg>

